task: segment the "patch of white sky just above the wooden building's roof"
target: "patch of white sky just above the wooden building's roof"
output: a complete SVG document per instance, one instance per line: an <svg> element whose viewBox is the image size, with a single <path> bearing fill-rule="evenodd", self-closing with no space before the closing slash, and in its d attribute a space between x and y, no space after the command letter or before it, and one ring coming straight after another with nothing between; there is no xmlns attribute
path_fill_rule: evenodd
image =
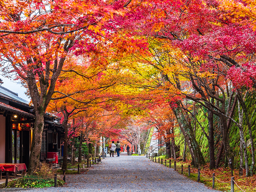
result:
<svg viewBox="0 0 256 192"><path fill-rule="evenodd" d="M30 101L27 95L25 95L25 92L27 92L27 90L24 87L22 87L19 81L8 79L4 76L1 76L1 74L0 74L0 79L2 79L4 82L1 86L11 90L12 92L18 93L20 98Z"/></svg>

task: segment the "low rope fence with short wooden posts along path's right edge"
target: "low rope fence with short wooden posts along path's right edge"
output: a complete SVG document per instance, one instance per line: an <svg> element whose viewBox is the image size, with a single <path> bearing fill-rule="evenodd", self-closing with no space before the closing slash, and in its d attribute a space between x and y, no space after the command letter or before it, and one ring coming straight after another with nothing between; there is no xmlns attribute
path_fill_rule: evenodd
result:
<svg viewBox="0 0 256 192"><path fill-rule="evenodd" d="M151 158L150 158L151 157ZM151 161L153 161L154 162L154 157L153 156L150 156L150 154L146 154L146 158L148 158L148 159L150 159ZM167 160L169 160L169 168L171 168L171 159L165 159L164 160L164 165L166 166L166 161ZM156 157L155 157L155 162L156 162ZM158 163L160 164L160 158L158 158ZM163 164L163 159L161 159L161 164ZM174 168L174 171L181 171L181 174L183 174L183 172L184 172L184 169L183 169L183 164L181 165L181 170L178 170L178 169L176 169L176 161L174 161L173 162L173 168ZM188 165L188 169L186 170L186 172L188 172L188 176L190 176L190 173L195 173L196 174L196 172L193 172L192 170L191 170L191 168L190 168L190 165ZM234 180L234 178L235 177L231 177L231 180L229 180L229 181L227 181L227 182L224 182L224 181L221 181L221 180L219 180L218 178L216 178L215 177L215 173L212 173L212 177L206 177L203 173L202 173L202 171L201 171L201 169L200 168L198 168L198 170L197 170L197 182L199 182L200 181L200 176L202 175L202 177L204 177L205 179L212 179L212 188L214 188L214 185L215 185L215 179L217 180L217 181L219 181L220 183L230 183L231 184L231 192L234 192L234 184L236 184L236 186L239 188L239 189L241 189L238 185L237 185L237 183L236 183L236 181ZM233 175L232 175L233 176ZM246 191L244 191L243 189L241 189L243 192L246 192Z"/></svg>

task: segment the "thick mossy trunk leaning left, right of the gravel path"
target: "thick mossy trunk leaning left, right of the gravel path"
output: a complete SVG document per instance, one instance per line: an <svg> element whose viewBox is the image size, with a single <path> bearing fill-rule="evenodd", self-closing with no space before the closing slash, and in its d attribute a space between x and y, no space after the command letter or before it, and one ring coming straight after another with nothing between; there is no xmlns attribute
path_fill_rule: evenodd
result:
<svg viewBox="0 0 256 192"><path fill-rule="evenodd" d="M193 134L192 127L189 126L189 124L187 123L184 114L180 108L180 102L178 101L176 102L176 104L177 105L175 107L171 106L171 108L180 126L180 130L188 144L189 152L192 157L192 165L195 167L201 167L205 164L204 157Z"/></svg>

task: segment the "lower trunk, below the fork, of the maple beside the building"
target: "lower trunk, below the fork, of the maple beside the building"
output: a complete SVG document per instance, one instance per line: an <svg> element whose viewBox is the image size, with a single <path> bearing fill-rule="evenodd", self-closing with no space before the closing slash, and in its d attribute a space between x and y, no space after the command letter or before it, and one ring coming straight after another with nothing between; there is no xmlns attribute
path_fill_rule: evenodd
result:
<svg viewBox="0 0 256 192"><path fill-rule="evenodd" d="M31 153L29 156L28 174L31 175L39 167L39 157L42 145L42 132L44 129L44 114L36 113L36 120L31 143Z"/></svg>

